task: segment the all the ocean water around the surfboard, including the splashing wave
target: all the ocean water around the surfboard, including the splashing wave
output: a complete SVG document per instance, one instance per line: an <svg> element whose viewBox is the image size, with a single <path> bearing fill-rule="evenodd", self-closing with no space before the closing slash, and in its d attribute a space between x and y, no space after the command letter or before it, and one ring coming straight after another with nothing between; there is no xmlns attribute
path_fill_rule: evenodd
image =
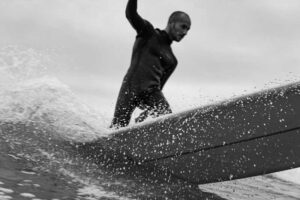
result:
<svg viewBox="0 0 300 200"><path fill-rule="evenodd" d="M74 144L109 136L111 116L50 75L46 57L0 50L1 200L300 199L299 169L198 186L87 158Z"/></svg>

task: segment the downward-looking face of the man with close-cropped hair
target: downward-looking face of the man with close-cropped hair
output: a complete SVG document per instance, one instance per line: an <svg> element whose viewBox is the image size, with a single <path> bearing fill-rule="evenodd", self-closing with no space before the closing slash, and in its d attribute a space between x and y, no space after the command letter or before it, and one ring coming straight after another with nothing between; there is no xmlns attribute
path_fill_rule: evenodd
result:
<svg viewBox="0 0 300 200"><path fill-rule="evenodd" d="M172 39L180 42L191 28L191 22L188 19L178 20L171 24Z"/></svg>

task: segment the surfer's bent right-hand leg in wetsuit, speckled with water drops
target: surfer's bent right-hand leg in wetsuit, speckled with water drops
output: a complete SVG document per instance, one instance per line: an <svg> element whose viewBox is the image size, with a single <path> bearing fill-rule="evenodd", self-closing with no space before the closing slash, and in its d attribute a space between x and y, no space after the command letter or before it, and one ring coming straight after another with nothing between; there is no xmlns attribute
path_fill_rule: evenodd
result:
<svg viewBox="0 0 300 200"><path fill-rule="evenodd" d="M169 103L160 90L147 93L142 99L146 109L135 119L135 122L142 122L148 116L155 118L172 113Z"/></svg>

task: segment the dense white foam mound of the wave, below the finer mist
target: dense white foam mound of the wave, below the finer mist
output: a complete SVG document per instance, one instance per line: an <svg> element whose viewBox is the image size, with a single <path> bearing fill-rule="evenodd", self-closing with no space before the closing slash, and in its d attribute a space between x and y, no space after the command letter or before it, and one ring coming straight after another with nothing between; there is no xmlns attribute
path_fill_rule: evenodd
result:
<svg viewBox="0 0 300 200"><path fill-rule="evenodd" d="M54 128L56 138L90 141L105 136L101 115L86 105L57 79L42 77L2 93L0 119L36 121Z"/></svg>

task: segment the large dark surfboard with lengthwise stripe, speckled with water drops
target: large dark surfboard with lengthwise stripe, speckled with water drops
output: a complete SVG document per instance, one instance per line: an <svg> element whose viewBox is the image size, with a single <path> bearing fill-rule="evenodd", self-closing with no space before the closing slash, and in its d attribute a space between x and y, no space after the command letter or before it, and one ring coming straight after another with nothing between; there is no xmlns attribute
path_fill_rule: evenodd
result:
<svg viewBox="0 0 300 200"><path fill-rule="evenodd" d="M196 184L300 167L300 82L121 129L106 147Z"/></svg>

